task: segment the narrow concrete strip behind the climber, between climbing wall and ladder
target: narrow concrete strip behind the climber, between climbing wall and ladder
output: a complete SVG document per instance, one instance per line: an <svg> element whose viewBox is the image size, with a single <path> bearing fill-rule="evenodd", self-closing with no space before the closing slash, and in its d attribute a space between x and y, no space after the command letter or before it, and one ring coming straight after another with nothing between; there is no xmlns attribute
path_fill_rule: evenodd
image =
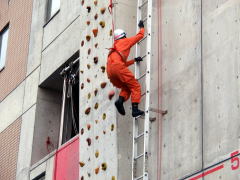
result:
<svg viewBox="0 0 240 180"><path fill-rule="evenodd" d="M137 1L119 0L114 7L114 24L115 29L123 29L128 37L136 34L136 15ZM123 15L124 14L124 15ZM132 48L129 59L135 57L135 48ZM129 67L134 73L134 65ZM116 91L118 98L120 90ZM132 169L132 111L131 102L124 103L126 115L121 116L117 113L117 138L118 138L118 179L131 179Z"/></svg>

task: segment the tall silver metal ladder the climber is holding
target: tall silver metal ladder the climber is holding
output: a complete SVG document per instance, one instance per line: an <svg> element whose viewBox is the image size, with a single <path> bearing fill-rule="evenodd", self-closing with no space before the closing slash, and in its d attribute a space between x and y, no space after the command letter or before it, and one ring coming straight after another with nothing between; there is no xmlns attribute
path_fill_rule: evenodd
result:
<svg viewBox="0 0 240 180"><path fill-rule="evenodd" d="M144 25L147 28L145 32L145 37L139 41L136 45L136 57L140 55L140 47L144 41L146 42L146 54L142 56L144 62L146 62L146 72L140 74L140 64L136 63L135 65L135 77L138 80L145 78L146 90L142 94L142 97L145 96L145 116L144 116L144 130L139 132L139 119L141 117L136 117L133 119L133 154L132 154L132 180L148 180L148 155L149 155L149 126L150 126L150 81L151 81L151 43L152 43L152 0L138 0L137 5L137 23L139 20L144 21ZM147 9L147 17L142 17L142 11L144 8ZM138 143L140 143L140 138L143 139L143 150L142 152L138 151ZM136 177L137 171L137 161L142 162L142 174Z"/></svg>

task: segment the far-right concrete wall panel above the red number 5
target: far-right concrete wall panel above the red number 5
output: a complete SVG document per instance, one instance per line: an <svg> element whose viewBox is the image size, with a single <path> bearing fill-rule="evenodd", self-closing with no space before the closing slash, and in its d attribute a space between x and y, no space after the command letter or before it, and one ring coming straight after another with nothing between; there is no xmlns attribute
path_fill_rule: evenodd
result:
<svg viewBox="0 0 240 180"><path fill-rule="evenodd" d="M203 1L205 167L240 145L239 19L238 0Z"/></svg>

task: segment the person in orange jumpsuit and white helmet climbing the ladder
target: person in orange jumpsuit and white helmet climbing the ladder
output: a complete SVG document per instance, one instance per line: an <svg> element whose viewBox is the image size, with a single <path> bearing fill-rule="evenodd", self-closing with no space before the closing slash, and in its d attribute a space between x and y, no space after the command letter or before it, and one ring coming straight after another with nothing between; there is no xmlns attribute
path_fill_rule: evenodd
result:
<svg viewBox="0 0 240 180"><path fill-rule="evenodd" d="M144 115L144 111L138 109L138 104L141 101L141 86L133 73L128 69L128 66L134 64L134 62L139 63L143 59L136 57L127 61L130 49L144 37L143 21L139 21L138 27L140 28L138 34L129 38L126 37L126 33L121 29L114 31L114 44L110 48L107 60L108 78L115 87L121 89L115 106L121 115L125 115L123 103L131 95L133 117Z"/></svg>

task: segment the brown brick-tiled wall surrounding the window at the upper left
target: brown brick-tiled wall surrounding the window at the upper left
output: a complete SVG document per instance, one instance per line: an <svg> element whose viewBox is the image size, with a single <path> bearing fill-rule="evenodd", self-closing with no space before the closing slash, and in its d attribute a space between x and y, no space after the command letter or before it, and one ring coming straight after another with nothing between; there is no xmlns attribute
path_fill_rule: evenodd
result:
<svg viewBox="0 0 240 180"><path fill-rule="evenodd" d="M0 101L25 78L32 0L0 1L0 30L9 23L7 60L0 72Z"/></svg>

